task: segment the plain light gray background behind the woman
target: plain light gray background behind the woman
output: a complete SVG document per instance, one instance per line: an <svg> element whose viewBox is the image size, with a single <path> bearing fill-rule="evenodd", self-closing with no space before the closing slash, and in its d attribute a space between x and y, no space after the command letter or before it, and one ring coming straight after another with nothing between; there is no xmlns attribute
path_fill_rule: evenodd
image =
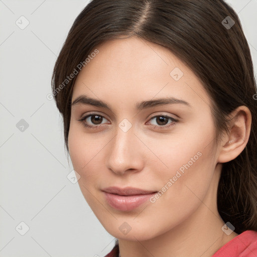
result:
<svg viewBox="0 0 257 257"><path fill-rule="evenodd" d="M0 257L96 257L114 245L78 184L67 179L73 169L62 119L47 99L56 57L87 3L0 0ZM256 71L257 0L228 3L239 14ZM16 25L21 16L29 21L24 30ZM16 126L21 119L29 124L23 132ZM25 235L22 221L30 228Z"/></svg>

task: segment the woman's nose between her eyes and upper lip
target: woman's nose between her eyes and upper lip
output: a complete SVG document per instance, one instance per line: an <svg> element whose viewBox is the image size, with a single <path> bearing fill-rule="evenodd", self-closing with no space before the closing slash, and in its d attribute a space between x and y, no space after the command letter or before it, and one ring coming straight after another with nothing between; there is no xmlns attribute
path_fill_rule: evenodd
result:
<svg viewBox="0 0 257 257"><path fill-rule="evenodd" d="M133 126L127 132L118 127L116 136L108 144L106 166L118 175L139 172L144 167L144 145L134 133Z"/></svg>

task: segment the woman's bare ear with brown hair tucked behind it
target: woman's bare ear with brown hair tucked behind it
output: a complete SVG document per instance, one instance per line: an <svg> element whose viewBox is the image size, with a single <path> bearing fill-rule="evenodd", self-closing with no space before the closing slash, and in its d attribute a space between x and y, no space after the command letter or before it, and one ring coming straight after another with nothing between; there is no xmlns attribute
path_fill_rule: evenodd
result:
<svg viewBox="0 0 257 257"><path fill-rule="evenodd" d="M226 163L235 159L245 148L250 136L250 110L246 106L239 106L230 115L229 134L226 134L221 141L218 163Z"/></svg>

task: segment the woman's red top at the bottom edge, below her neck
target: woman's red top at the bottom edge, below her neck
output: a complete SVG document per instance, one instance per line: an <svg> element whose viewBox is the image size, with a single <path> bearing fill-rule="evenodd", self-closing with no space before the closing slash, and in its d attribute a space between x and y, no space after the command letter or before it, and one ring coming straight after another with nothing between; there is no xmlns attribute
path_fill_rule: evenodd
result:
<svg viewBox="0 0 257 257"><path fill-rule="evenodd" d="M118 257L118 245L105 257ZM212 257L256 257L257 256L257 232L246 230L223 245Z"/></svg>

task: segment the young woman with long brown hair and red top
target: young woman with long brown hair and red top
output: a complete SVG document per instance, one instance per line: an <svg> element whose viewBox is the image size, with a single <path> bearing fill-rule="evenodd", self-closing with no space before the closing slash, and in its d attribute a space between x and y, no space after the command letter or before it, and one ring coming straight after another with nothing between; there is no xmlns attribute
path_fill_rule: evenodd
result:
<svg viewBox="0 0 257 257"><path fill-rule="evenodd" d="M53 72L67 151L106 256L257 255L257 101L219 0L92 0Z"/></svg>

